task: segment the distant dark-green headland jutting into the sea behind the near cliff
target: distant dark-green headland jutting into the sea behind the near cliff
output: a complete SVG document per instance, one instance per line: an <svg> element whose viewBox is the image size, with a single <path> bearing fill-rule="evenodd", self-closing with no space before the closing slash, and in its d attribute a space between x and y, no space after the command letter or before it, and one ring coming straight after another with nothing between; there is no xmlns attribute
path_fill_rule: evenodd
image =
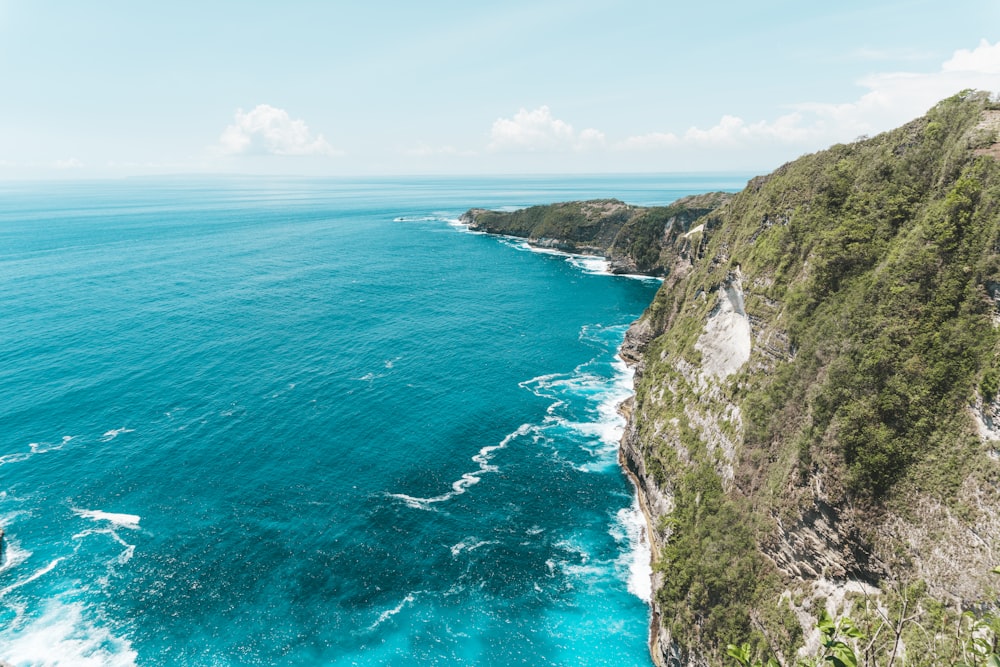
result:
<svg viewBox="0 0 1000 667"><path fill-rule="evenodd" d="M678 258L699 252L702 235L691 223L732 195L712 192L670 206L632 206L617 199L532 206L513 212L472 209L462 216L471 229L525 238L566 252L603 255L612 271L664 275Z"/></svg>

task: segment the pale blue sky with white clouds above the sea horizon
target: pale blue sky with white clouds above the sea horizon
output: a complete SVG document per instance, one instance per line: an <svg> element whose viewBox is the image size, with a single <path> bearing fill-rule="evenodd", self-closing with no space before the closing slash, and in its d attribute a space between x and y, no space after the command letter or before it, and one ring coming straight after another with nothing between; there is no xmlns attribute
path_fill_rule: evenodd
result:
<svg viewBox="0 0 1000 667"><path fill-rule="evenodd" d="M966 88L1000 0L0 0L0 179L764 173Z"/></svg>

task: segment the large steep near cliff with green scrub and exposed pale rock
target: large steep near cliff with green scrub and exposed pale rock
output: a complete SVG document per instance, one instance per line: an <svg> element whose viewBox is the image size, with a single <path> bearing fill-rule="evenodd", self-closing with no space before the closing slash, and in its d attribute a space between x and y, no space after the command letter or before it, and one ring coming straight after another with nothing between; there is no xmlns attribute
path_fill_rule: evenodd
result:
<svg viewBox="0 0 1000 667"><path fill-rule="evenodd" d="M622 348L658 662L794 664L824 608L995 601L998 118L950 98L688 224Z"/></svg>

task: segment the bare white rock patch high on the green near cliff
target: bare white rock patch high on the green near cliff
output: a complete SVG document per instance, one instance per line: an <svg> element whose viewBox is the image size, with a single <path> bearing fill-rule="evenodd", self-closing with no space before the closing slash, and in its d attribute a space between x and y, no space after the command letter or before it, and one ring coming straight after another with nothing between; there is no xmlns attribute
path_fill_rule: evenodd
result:
<svg viewBox="0 0 1000 667"><path fill-rule="evenodd" d="M750 359L750 320L743 309L743 281L735 277L719 288L719 302L698 337L703 378L723 380Z"/></svg>

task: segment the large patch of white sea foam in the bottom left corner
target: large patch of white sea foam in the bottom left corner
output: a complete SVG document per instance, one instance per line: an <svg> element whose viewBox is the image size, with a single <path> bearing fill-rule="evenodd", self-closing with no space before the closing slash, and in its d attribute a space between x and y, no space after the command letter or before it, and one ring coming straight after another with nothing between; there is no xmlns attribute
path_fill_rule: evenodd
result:
<svg viewBox="0 0 1000 667"><path fill-rule="evenodd" d="M53 601L38 618L0 631L3 658L40 667L130 667L138 657L127 639L96 625L79 602Z"/></svg>

